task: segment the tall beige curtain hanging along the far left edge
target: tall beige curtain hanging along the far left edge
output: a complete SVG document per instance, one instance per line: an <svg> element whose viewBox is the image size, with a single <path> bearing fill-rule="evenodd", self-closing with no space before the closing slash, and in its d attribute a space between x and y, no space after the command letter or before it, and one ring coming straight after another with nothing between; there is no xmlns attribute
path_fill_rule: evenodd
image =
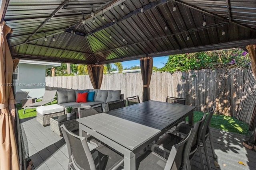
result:
<svg viewBox="0 0 256 170"><path fill-rule="evenodd" d="M6 40L12 29L0 23L0 170L18 170L20 167L16 139L14 135L15 110L12 87L12 73L18 60L13 61ZM14 65L15 63L15 65Z"/></svg>

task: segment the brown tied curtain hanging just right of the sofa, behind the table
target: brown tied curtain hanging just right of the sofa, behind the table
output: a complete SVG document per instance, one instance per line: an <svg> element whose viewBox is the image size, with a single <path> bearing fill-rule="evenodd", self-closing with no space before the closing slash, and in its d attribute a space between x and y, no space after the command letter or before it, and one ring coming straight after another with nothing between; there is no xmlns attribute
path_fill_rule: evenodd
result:
<svg viewBox="0 0 256 170"><path fill-rule="evenodd" d="M150 100L150 80L153 69L153 59L152 57L143 57L140 59L140 70L143 81L143 92L142 92L142 102Z"/></svg>

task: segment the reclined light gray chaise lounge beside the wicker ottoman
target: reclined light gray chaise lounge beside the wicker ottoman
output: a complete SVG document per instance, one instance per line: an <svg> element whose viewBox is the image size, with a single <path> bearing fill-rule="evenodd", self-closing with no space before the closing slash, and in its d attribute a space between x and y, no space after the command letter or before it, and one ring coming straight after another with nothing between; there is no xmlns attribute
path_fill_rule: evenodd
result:
<svg viewBox="0 0 256 170"><path fill-rule="evenodd" d="M54 100L54 98L56 97L56 92L57 92L57 90L45 90L44 96L40 97L40 98L42 98L42 101L26 105L24 107L23 114L25 113L26 109L36 108L38 106L44 106L48 103L51 103ZM40 99L40 98L37 98L37 99Z"/></svg>

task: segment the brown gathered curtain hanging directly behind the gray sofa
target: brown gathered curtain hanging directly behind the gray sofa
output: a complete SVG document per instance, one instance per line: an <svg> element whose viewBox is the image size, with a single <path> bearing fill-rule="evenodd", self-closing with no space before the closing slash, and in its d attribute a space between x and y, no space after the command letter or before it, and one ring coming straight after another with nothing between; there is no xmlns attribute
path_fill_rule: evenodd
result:
<svg viewBox="0 0 256 170"><path fill-rule="evenodd" d="M88 64L87 71L94 89L100 89L103 79L103 64Z"/></svg>

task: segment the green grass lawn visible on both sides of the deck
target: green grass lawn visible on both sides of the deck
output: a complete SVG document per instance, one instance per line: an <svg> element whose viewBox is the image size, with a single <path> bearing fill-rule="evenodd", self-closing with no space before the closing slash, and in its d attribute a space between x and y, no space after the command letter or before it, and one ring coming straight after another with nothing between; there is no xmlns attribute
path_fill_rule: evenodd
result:
<svg viewBox="0 0 256 170"><path fill-rule="evenodd" d="M50 104L57 104L57 101L54 100ZM36 116L36 109L26 109L25 114L23 114L23 109L21 108L21 104L17 104L16 106L18 109L20 119ZM199 121L203 116L203 114L204 114L203 112L194 111L194 122ZM188 122L188 118L186 118L186 122ZM229 131L229 132L234 132L234 133L239 133L244 135L249 134L248 132L249 125L243 121L237 120L234 117L214 114L212 116L212 121L210 126L216 129L224 130L224 131Z"/></svg>

